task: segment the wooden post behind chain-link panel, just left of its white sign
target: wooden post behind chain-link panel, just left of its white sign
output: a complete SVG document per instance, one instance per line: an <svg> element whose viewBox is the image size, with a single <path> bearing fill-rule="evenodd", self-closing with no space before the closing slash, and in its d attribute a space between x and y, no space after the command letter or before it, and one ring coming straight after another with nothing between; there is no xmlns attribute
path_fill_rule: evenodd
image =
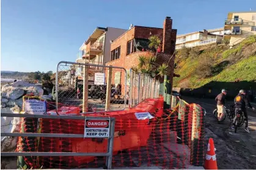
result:
<svg viewBox="0 0 256 170"><path fill-rule="evenodd" d="M82 112L88 110L88 68L84 65L84 82L82 88Z"/></svg>

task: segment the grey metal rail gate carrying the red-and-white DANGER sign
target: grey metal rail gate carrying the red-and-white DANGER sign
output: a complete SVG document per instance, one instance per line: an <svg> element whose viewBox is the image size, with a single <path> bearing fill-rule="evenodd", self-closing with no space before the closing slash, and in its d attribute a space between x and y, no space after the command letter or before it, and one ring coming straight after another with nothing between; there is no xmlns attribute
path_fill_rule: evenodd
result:
<svg viewBox="0 0 256 170"><path fill-rule="evenodd" d="M1 136L18 136L16 152L1 152L1 157L18 156L18 168L87 168L79 163L106 157L101 168L111 169L115 118L14 113L1 116L23 118L22 133L1 133ZM95 122L101 122L102 126L99 128ZM92 147L77 143L81 141L106 144L106 152L90 152Z"/></svg>

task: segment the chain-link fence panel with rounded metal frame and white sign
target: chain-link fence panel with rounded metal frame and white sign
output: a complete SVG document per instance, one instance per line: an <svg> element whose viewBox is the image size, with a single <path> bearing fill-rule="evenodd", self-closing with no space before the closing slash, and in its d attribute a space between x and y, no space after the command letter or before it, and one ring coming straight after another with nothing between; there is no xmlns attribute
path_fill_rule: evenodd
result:
<svg viewBox="0 0 256 170"><path fill-rule="evenodd" d="M125 110L126 70L89 63L59 62L56 107L80 107L83 113Z"/></svg>

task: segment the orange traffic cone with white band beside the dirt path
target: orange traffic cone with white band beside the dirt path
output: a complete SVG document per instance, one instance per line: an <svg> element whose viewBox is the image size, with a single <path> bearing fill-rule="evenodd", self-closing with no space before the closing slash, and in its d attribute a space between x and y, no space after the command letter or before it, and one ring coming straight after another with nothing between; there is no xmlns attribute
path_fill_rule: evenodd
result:
<svg viewBox="0 0 256 170"><path fill-rule="evenodd" d="M207 155L205 156L205 169L218 169L213 138L209 139Z"/></svg>

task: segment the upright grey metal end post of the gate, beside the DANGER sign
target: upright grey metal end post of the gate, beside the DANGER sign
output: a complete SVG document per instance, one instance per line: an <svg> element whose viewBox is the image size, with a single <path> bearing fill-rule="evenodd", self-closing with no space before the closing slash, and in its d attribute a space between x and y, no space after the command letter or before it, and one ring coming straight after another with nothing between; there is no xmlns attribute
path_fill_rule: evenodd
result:
<svg viewBox="0 0 256 170"><path fill-rule="evenodd" d="M115 134L115 119L111 121L110 125L110 136L108 138L108 153L110 156L106 158L106 166L108 169L112 168L112 156L113 156L113 146L114 146L114 134Z"/></svg>

